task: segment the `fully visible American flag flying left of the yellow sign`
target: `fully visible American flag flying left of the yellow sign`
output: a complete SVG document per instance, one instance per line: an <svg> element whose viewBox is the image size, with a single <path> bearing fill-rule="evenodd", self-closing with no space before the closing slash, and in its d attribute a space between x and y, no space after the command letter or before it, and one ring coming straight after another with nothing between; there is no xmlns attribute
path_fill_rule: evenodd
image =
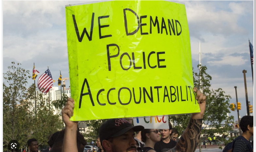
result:
<svg viewBox="0 0 256 152"><path fill-rule="evenodd" d="M47 69L43 75L41 75L39 78L38 78L38 81L37 81L37 87L38 89L46 94L49 92L49 90L52 88L52 85L53 85L53 80L52 80L52 75L51 75L51 72L49 69Z"/></svg>

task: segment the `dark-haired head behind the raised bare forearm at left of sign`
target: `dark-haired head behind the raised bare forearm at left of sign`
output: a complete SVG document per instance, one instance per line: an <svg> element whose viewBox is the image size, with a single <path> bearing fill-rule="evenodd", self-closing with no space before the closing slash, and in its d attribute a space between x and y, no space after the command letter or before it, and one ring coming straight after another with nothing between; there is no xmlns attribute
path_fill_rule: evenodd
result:
<svg viewBox="0 0 256 152"><path fill-rule="evenodd" d="M63 145L63 139L65 135L65 129L61 131L55 132L51 139L49 140L50 142L48 143L51 147L51 150L49 152L61 152L62 151L62 145ZM78 152L83 152L84 151L84 146L87 144L86 140L84 139L84 136L77 130L76 134L76 141L77 141L77 146L74 149L78 149Z"/></svg>

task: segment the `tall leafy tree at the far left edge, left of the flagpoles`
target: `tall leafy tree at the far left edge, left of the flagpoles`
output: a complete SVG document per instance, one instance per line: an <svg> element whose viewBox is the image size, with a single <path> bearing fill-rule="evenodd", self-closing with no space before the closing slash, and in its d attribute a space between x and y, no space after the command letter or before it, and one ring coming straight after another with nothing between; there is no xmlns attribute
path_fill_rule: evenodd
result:
<svg viewBox="0 0 256 152"><path fill-rule="evenodd" d="M9 141L16 140L20 146L26 144L26 139L32 131L32 115L27 110L28 102L27 80L29 71L17 67L11 62L9 71L3 74L3 142L7 150Z"/></svg>

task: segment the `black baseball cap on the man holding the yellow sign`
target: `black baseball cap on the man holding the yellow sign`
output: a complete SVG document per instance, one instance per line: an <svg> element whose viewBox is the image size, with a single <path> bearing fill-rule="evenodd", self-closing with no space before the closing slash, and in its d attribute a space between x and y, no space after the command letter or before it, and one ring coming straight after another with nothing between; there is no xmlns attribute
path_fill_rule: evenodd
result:
<svg viewBox="0 0 256 152"><path fill-rule="evenodd" d="M99 138L100 143L103 140L108 140L111 137L120 136L130 129L133 129L134 132L141 131L144 129L143 126L132 126L127 120L123 118L118 119L109 119L100 126L99 129Z"/></svg>

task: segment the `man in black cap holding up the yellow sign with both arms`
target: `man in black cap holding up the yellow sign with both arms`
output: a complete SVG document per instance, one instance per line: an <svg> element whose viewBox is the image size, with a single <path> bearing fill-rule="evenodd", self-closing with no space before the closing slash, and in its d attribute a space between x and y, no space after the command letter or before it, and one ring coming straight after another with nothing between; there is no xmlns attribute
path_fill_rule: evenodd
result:
<svg viewBox="0 0 256 152"><path fill-rule="evenodd" d="M188 127L181 135L176 147L171 149L170 152L193 152L196 150L199 142L197 137L200 136L200 131L202 128L206 96L200 93L197 88L194 88L194 91L196 92L196 100L199 104L200 112L191 115L191 119L188 122ZM75 145L78 122L69 120L71 116L73 116L74 104L74 100L72 98L68 98L65 107L61 111L62 120L66 126L62 150L63 152L77 152L77 147ZM105 152L136 151L134 132L141 131L143 128L143 126L132 126L125 119L109 119L101 125L99 131L102 148Z"/></svg>

